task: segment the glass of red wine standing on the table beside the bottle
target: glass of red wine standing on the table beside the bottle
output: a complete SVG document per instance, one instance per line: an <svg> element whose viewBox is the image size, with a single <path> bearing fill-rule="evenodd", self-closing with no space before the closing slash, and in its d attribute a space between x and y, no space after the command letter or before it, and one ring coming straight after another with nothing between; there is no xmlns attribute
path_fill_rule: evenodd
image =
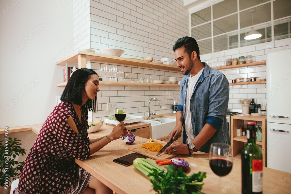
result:
<svg viewBox="0 0 291 194"><path fill-rule="evenodd" d="M211 170L219 176L219 193L221 193L221 177L228 175L233 167L231 146L225 143L212 143L209 150Z"/></svg>

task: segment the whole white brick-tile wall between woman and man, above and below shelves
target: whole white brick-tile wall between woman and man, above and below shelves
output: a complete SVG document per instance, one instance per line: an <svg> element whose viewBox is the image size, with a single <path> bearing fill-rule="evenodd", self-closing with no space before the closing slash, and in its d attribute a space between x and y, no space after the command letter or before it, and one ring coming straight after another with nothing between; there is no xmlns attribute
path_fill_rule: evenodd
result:
<svg viewBox="0 0 291 194"><path fill-rule="evenodd" d="M121 1L121 0L74 0L74 51L79 49L94 49L100 53L104 48L120 48L125 51L122 57L144 60L153 56L154 62L161 58L174 58L173 45L178 38L189 35L188 10L183 7L182 0L170 1ZM79 38L79 34L84 37ZM129 72L130 78L151 76L152 79L168 80L169 76L181 81L181 72L158 70L146 67L136 67L115 63L91 61L87 63L99 75L100 66L111 68L115 65ZM103 78L102 74L100 77ZM106 75L110 80L109 74ZM117 78L121 81L121 78ZM124 75L122 81L125 81ZM172 112L173 98L179 99L179 87L152 86L100 86L98 92L98 112L89 114L88 120L112 116L113 111L107 111L107 102L114 106L125 106L127 114L139 116L148 115L148 100L159 99L150 103L151 111L157 114Z"/></svg>

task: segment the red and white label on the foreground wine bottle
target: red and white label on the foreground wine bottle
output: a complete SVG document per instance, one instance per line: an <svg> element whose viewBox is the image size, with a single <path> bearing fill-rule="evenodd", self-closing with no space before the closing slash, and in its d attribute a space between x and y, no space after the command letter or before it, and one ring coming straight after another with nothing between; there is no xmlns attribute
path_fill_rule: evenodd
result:
<svg viewBox="0 0 291 194"><path fill-rule="evenodd" d="M252 191L263 191L263 160L252 160Z"/></svg>

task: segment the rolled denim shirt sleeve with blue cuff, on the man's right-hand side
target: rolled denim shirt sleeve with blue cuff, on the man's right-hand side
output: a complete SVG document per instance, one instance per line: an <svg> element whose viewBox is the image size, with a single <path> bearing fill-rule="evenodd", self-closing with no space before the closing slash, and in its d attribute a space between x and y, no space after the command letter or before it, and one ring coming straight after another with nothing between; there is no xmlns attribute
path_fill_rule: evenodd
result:
<svg viewBox="0 0 291 194"><path fill-rule="evenodd" d="M209 111L206 122L219 130L227 114L229 83L224 74L216 74L213 79L209 89Z"/></svg>

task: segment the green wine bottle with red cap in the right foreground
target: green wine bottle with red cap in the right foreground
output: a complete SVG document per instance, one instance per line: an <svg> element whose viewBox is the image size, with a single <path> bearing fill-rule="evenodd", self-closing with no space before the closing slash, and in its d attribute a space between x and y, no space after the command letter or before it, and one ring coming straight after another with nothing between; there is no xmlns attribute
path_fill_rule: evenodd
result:
<svg viewBox="0 0 291 194"><path fill-rule="evenodd" d="M248 122L246 136L248 143L242 148L242 194L262 193L262 152L255 144L255 123Z"/></svg>

